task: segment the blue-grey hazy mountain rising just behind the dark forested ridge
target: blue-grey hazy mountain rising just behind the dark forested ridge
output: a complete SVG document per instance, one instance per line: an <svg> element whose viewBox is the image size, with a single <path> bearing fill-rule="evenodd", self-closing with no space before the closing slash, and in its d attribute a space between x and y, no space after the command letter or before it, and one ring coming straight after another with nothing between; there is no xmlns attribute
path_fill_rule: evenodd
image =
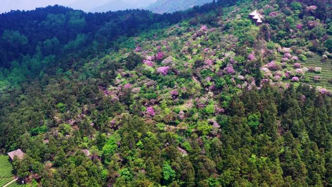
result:
<svg viewBox="0 0 332 187"><path fill-rule="evenodd" d="M196 5L203 5L213 0L157 0L150 4L147 9L154 13L172 13L180 10L186 10Z"/></svg>

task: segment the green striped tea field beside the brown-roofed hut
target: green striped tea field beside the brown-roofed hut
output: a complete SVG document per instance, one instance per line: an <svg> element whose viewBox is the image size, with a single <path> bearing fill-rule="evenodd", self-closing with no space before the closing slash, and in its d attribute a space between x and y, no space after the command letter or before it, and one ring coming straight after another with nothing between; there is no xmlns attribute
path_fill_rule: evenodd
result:
<svg viewBox="0 0 332 187"><path fill-rule="evenodd" d="M13 166L9 162L9 156L0 155L0 187L5 186L9 182L15 179L13 174ZM19 183L13 182L7 187L25 187L26 185L21 185Z"/></svg>

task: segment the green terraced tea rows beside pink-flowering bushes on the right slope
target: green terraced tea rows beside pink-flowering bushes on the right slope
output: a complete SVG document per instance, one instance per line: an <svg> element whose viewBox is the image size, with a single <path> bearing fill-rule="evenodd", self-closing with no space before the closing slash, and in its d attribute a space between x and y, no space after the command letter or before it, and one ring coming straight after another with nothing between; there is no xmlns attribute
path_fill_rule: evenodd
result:
<svg viewBox="0 0 332 187"><path fill-rule="evenodd" d="M279 55L276 59L276 62L280 62L282 59L282 56ZM314 55L312 57L308 57L307 61L299 61L299 63L302 65L302 67L320 67L322 68L322 72L321 73L315 73L315 72L306 72L304 77L308 77L308 84L310 85L315 85L315 86L321 86L321 87L325 87L329 90L332 90L332 83L329 83L329 80L332 79L332 60L328 59L326 62L322 63L320 61L321 57L318 55ZM319 82L315 82L313 77L315 75L318 75L321 77ZM285 82L290 82L285 81Z"/></svg>

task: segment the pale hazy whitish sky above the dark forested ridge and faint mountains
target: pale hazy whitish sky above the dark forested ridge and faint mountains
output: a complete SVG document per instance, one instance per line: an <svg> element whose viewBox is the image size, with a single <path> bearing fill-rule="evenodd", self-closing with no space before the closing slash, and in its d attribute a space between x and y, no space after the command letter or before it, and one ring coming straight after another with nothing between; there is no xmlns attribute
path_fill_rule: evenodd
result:
<svg viewBox="0 0 332 187"><path fill-rule="evenodd" d="M101 6L109 1L111 0L0 0L0 13L9 12L11 10L33 10L36 7L45 7L54 4L70 6L74 9L83 9L84 11L88 11L94 7ZM123 1L126 3L137 3L137 1L146 1L148 3L155 0Z"/></svg>

